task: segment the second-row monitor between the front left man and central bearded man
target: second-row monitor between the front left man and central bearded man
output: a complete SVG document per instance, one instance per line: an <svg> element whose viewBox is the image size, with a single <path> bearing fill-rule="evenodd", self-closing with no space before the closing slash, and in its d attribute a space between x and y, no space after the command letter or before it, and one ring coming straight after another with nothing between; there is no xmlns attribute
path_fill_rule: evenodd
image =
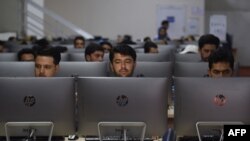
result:
<svg viewBox="0 0 250 141"><path fill-rule="evenodd" d="M107 76L106 62L61 62L56 76Z"/></svg>

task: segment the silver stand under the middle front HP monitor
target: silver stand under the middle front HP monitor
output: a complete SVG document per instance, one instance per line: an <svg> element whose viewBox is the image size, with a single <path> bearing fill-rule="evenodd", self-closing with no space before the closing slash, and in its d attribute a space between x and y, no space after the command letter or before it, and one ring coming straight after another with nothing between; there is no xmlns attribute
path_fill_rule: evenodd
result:
<svg viewBox="0 0 250 141"><path fill-rule="evenodd" d="M103 141L101 127L121 127L121 134L123 136L124 141L127 141L127 128L128 127L142 127L140 141L144 141L144 137L146 133L146 123L144 122L99 122L98 123L98 135L99 135L100 141Z"/></svg>

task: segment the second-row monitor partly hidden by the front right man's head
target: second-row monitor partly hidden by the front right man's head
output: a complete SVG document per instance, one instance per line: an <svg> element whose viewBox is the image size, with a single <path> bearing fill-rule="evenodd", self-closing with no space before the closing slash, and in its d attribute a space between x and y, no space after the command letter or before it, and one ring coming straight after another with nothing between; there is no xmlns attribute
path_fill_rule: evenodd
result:
<svg viewBox="0 0 250 141"><path fill-rule="evenodd" d="M208 75L208 62L175 62L174 76L176 77L204 77ZM239 63L234 63L233 76L237 76Z"/></svg>

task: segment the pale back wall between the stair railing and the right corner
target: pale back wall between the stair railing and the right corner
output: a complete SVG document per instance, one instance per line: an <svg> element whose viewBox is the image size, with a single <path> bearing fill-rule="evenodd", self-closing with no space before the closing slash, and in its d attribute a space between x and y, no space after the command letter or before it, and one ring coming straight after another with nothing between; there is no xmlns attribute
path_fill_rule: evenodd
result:
<svg viewBox="0 0 250 141"><path fill-rule="evenodd" d="M115 39L130 34L134 39L154 37L157 31L157 6L184 5L186 17L197 18L204 32L204 0L45 0L45 7L93 35ZM46 19L46 17L45 17Z"/></svg>

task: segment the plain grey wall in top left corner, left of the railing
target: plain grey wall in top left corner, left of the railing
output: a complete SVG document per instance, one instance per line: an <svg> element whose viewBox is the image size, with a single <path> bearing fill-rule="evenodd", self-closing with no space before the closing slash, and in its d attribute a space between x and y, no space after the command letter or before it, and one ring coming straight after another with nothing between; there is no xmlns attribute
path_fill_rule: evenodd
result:
<svg viewBox="0 0 250 141"><path fill-rule="evenodd" d="M22 2L20 0L0 1L0 32L17 32L22 30Z"/></svg>

